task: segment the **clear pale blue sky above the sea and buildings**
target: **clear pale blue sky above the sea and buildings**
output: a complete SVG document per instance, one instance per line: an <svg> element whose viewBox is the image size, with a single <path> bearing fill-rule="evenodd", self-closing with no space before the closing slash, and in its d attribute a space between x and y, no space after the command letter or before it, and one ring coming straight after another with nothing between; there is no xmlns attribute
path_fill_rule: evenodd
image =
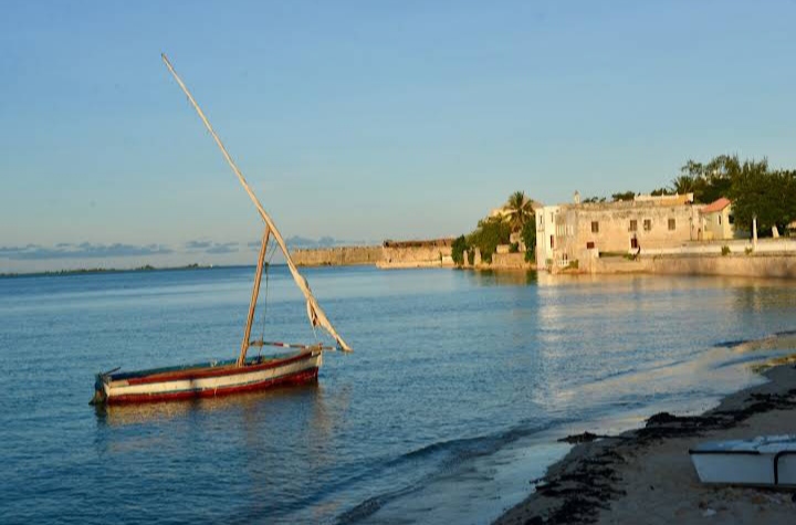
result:
<svg viewBox="0 0 796 525"><path fill-rule="evenodd" d="M0 273L253 263L796 167L794 1L0 2Z"/></svg>

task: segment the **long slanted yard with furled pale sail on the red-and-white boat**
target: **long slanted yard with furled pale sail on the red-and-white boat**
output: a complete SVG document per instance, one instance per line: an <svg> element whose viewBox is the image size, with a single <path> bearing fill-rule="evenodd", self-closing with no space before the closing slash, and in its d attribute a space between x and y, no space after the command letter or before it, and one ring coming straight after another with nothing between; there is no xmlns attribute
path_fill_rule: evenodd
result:
<svg viewBox="0 0 796 525"><path fill-rule="evenodd" d="M282 253L284 254L285 262L287 263L287 267L291 271L291 274L293 275L293 280L295 281L298 288L304 294L304 297L306 298L306 307L307 307L307 317L310 317L310 324L312 326L322 326L326 332L329 333L332 337L335 338L337 342L337 346L341 350L344 351L350 351L350 347L346 344L345 340L343 340L343 337L341 337L339 334L337 334L337 330L332 326L332 323L329 322L328 317L326 317L326 314L321 308L321 305L317 303L317 300L312 294L312 291L310 290L310 284L306 282L306 280L298 273L298 269L296 269L295 263L293 262L293 259L291 258L290 251L287 250L287 244L285 244L284 239L282 238L282 234L276 229L276 227L273 223L273 220L271 219L271 216L269 216L265 212L265 209L260 203L260 200L256 198L254 192L249 187L249 183L247 182L245 178L243 177L243 174L241 174L240 169L238 169L238 166L234 164L234 160L232 160L232 157L230 157L230 154L227 151L227 148L221 143L221 139L216 135L216 132L213 130L212 126L210 125L210 122L205 116L205 113L199 107L199 104L193 99L193 96L188 91L188 87L186 87L185 83L182 83L182 80L179 77L177 72L175 71L174 66L169 62L169 60L166 57L166 54L163 53L160 55L163 57L164 63L166 64L166 67L168 67L171 75L177 81L177 84L179 84L180 88L182 90L182 93L186 94L188 97L188 101L193 106L193 109L196 109L197 114L199 115L199 118L201 118L202 123L205 123L205 127L207 127L208 132L210 132L210 135L213 137L213 140L216 140L216 144L218 145L219 149L221 149L221 154L223 154L224 159L227 159L227 164L230 165L230 168L232 168L232 171L234 171L235 176L238 176L238 180L243 186L243 189L249 195L249 198L254 203L254 207L258 209L258 212L260 213L260 217L262 217L263 221L265 221L265 224L268 225L269 230L271 230L271 233L274 237L274 240L276 241L276 244L279 244L280 249L282 250Z"/></svg>

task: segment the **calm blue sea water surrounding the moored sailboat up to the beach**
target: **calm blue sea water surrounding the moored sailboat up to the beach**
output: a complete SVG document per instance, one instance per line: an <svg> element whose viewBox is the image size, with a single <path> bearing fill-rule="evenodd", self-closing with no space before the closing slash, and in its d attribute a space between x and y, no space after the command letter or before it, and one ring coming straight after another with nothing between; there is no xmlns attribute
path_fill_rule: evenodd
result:
<svg viewBox="0 0 796 525"><path fill-rule="evenodd" d="M107 410L97 371L234 357L253 269L0 279L0 521L489 523L557 437L704 410L796 328L787 281L304 273L355 349L317 385ZM325 340L263 293L256 336Z"/></svg>

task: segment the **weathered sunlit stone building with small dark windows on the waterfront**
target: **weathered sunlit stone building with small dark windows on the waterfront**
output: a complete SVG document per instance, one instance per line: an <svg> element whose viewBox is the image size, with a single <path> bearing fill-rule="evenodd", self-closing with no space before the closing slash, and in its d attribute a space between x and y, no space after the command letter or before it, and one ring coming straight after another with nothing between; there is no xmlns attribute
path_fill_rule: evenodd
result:
<svg viewBox="0 0 796 525"><path fill-rule="evenodd" d="M555 270L600 253L681 245L701 235L693 193L636 196L618 202L580 202L536 210L536 264Z"/></svg>

